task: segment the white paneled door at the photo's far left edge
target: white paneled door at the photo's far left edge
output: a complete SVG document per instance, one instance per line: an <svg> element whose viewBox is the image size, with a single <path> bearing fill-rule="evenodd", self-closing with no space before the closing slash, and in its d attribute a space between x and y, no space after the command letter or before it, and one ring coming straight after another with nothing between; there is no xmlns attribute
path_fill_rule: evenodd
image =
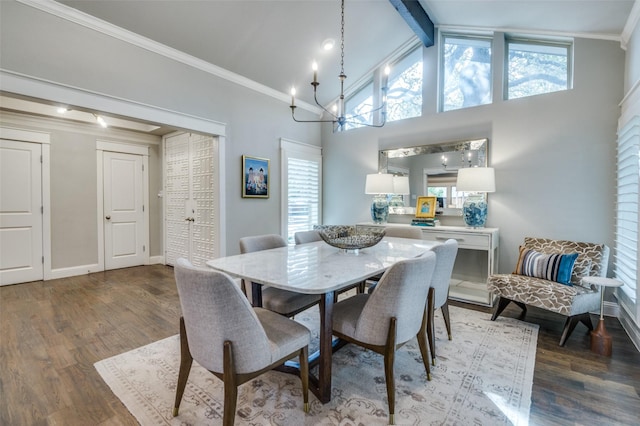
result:
<svg viewBox="0 0 640 426"><path fill-rule="evenodd" d="M0 285L44 278L42 146L0 140Z"/></svg>

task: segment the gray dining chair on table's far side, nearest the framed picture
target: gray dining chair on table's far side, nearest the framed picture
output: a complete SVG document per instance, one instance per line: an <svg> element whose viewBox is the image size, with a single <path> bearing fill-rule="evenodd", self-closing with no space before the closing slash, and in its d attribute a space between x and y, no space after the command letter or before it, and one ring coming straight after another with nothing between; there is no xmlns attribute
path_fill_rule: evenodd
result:
<svg viewBox="0 0 640 426"><path fill-rule="evenodd" d="M287 242L277 234L240 238L240 253L252 253L286 246ZM246 287L246 284L243 283L243 286ZM319 302L320 296L317 294L296 293L274 287L262 288L262 307L286 317L292 317Z"/></svg>

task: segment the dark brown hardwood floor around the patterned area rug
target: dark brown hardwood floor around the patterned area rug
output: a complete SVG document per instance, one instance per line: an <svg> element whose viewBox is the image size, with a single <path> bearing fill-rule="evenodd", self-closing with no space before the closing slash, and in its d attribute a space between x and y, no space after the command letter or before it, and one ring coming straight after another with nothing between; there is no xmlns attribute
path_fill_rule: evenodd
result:
<svg viewBox="0 0 640 426"><path fill-rule="evenodd" d="M0 287L0 424L137 424L93 364L176 334L179 316L162 265ZM563 317L530 308L527 321L540 325L530 425L639 424L640 353L615 318L611 358L582 325L560 348Z"/></svg>

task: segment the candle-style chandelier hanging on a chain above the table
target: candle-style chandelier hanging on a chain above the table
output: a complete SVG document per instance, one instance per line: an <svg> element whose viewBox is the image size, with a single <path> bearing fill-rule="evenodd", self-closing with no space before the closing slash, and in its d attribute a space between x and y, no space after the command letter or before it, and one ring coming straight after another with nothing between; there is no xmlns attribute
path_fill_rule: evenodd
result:
<svg viewBox="0 0 640 426"><path fill-rule="evenodd" d="M385 75L389 74L389 67L385 68ZM334 131L336 130L344 130L345 125L347 123L356 125L356 126L368 126L368 127L382 127L386 122L386 106L387 106L387 88L382 87L382 103L378 108L371 109L367 111L365 114L370 115L371 122L365 119L364 115L350 115L347 116L345 113L345 100L344 100L344 81L347 79L347 76L344 73L344 0L341 2L341 22L340 22L340 75L338 75L338 79L340 79L340 97L338 101L333 106L333 110L330 111L321 105L318 102L317 91L320 82L318 81L318 66L314 62L313 63L313 81L311 85L313 86L313 99L322 111L324 112L323 116L328 117L326 119L319 120L298 120L295 116L296 105L295 105L295 96L296 89L295 87L291 88L291 117L294 121L298 123L334 123ZM386 84L386 81L385 81ZM381 120L379 124L374 124L374 114L380 111Z"/></svg>

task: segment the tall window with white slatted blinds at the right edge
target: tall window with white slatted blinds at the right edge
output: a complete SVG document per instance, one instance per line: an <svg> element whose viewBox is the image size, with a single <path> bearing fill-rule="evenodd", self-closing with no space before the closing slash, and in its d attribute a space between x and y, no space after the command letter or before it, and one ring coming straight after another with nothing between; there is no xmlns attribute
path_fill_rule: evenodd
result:
<svg viewBox="0 0 640 426"><path fill-rule="evenodd" d="M637 309L638 296L638 188L640 186L640 117L634 117L618 134L615 276L623 306ZM635 317L635 315L634 315Z"/></svg>

